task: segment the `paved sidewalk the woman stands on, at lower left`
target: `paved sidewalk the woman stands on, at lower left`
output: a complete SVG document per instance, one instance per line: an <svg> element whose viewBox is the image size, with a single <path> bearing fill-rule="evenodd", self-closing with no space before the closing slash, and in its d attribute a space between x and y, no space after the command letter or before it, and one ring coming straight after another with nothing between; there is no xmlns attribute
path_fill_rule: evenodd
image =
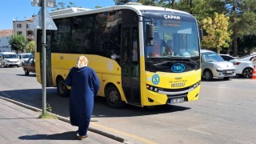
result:
<svg viewBox="0 0 256 144"><path fill-rule="evenodd" d="M18 106L0 98L0 143L122 143L88 131L89 137L76 139L77 126L58 119L38 118L40 111Z"/></svg>

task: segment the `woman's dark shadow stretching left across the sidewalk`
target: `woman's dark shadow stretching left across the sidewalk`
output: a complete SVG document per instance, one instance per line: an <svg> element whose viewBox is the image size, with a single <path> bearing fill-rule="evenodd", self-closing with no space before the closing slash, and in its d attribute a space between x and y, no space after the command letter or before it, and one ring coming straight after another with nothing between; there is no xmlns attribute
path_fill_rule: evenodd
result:
<svg viewBox="0 0 256 144"><path fill-rule="evenodd" d="M68 131L61 134L35 134L19 137L23 140L76 140L76 132Z"/></svg>

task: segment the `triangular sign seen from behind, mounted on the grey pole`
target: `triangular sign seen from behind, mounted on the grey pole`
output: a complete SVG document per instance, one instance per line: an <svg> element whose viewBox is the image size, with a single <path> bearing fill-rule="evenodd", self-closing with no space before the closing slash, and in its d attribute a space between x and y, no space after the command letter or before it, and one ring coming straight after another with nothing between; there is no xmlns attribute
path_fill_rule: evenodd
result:
<svg viewBox="0 0 256 144"><path fill-rule="evenodd" d="M39 10L38 15L34 18L34 21L30 23L30 29L42 30L42 9ZM50 14L46 11L46 30L58 30L54 23L54 20L50 17Z"/></svg>

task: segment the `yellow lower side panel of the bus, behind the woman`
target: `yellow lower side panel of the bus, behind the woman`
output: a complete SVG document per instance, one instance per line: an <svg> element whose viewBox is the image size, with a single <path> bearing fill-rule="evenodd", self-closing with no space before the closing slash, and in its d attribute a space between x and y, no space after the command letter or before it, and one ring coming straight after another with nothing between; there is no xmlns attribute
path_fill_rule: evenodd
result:
<svg viewBox="0 0 256 144"><path fill-rule="evenodd" d="M126 98L122 91L122 82L121 82L121 67L118 65L118 62L111 58L105 58L98 55L90 54L51 54L51 72L53 79L53 86L57 86L56 80L58 77L66 79L67 74L70 69L74 67L77 63L78 57L85 55L88 58L88 66L92 67L96 74L98 75L100 81L100 90L98 91L99 96L104 96L104 88L107 84L114 84L121 94L122 100L126 102ZM41 82L40 72L40 62L39 62L39 53L36 53L36 71L37 79L39 83Z"/></svg>

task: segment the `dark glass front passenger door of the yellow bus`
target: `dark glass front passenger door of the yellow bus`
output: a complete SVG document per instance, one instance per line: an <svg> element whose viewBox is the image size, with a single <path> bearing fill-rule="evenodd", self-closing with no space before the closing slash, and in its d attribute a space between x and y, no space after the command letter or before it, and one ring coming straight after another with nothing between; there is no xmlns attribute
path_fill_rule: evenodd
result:
<svg viewBox="0 0 256 144"><path fill-rule="evenodd" d="M137 26L122 29L122 90L128 103L141 106Z"/></svg>

